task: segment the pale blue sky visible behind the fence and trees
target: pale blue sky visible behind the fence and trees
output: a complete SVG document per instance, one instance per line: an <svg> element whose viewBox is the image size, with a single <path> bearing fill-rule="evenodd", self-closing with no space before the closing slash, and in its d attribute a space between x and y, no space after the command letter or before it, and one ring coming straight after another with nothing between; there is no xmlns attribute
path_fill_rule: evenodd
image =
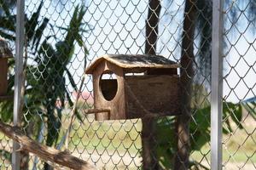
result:
<svg viewBox="0 0 256 170"><path fill-rule="evenodd" d="M38 2L38 0L26 1L26 14L35 11ZM81 1L66 3L63 0L62 2L65 3L64 6L50 3L49 0L44 1L42 18L48 17L53 26L67 27L75 5L79 2L81 4ZM148 1L95 0L83 3L87 7L84 22L90 25L84 26L90 31L83 34L84 42L90 53L87 56L87 65L102 54L143 54ZM157 53L178 61L181 51L181 41L178 37L183 28L183 1L172 0L169 3L163 1L161 4ZM224 99L239 102L256 94L254 87L256 82L256 44L254 41L256 37L252 31L249 31L255 29L255 26L250 24L247 28L247 18L244 14L240 15L239 21L234 26L230 25L226 16L224 19L228 27L228 31L224 30ZM44 36L53 33L49 27L49 31L46 31ZM61 31L55 34L57 37L63 37ZM75 56L68 68L73 73L75 82L79 84L84 73L84 52L79 46L76 46ZM84 91L91 92L93 90L91 77L86 77L85 82ZM70 84L67 84L67 88L73 92Z"/></svg>

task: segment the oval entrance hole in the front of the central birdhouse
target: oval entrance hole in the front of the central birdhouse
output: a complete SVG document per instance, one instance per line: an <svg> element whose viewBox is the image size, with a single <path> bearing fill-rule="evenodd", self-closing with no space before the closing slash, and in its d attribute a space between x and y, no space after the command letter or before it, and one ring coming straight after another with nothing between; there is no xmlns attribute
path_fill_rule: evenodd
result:
<svg viewBox="0 0 256 170"><path fill-rule="evenodd" d="M112 71L103 72L99 85L104 99L108 101L112 100L118 89L116 75Z"/></svg>

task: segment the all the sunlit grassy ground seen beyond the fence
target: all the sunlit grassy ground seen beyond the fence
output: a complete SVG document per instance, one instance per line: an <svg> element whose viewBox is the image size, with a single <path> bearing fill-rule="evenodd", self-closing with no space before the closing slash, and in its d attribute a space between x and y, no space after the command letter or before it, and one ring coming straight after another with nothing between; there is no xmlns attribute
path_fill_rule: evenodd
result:
<svg viewBox="0 0 256 170"><path fill-rule="evenodd" d="M63 121L63 127L66 124L67 119ZM243 126L245 129L237 129L235 133L223 136L223 162L226 169L233 166L231 169L241 167L251 170L253 164L256 165L255 122L250 120ZM74 123L69 149L74 156L95 163L97 167L137 169L142 161L141 129L140 120L95 122L92 117L84 117L84 122ZM63 133L64 128L61 130ZM7 143L2 133L0 141L1 150L9 150L11 143ZM203 146L200 151L192 152L190 159L209 167L210 144ZM1 160L3 164L3 157Z"/></svg>

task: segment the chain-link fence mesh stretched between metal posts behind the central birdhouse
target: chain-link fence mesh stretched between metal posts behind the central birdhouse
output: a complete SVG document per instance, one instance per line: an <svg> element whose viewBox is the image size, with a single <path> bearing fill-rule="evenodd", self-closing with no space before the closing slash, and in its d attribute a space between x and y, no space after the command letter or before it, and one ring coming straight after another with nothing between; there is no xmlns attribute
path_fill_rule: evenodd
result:
<svg viewBox="0 0 256 170"><path fill-rule="evenodd" d="M8 2L0 1L0 35L15 49L16 6ZM255 7L254 0L224 2L224 169L256 169ZM25 18L27 136L99 169L210 169L212 1L26 0ZM84 71L103 54L160 54L180 64L182 115L87 115L94 94ZM14 74L10 60L9 94ZM4 122L12 122L12 106L0 103ZM12 142L3 134L0 141L1 169L10 169ZM20 169L51 168L21 151Z"/></svg>

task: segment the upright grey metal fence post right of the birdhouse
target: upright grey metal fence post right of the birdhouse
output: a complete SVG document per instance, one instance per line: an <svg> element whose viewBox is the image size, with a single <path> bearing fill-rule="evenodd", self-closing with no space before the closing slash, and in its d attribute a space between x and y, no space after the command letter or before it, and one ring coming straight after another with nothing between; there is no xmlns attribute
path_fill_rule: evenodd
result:
<svg viewBox="0 0 256 170"><path fill-rule="evenodd" d="M211 169L222 169L223 1L212 1Z"/></svg>

